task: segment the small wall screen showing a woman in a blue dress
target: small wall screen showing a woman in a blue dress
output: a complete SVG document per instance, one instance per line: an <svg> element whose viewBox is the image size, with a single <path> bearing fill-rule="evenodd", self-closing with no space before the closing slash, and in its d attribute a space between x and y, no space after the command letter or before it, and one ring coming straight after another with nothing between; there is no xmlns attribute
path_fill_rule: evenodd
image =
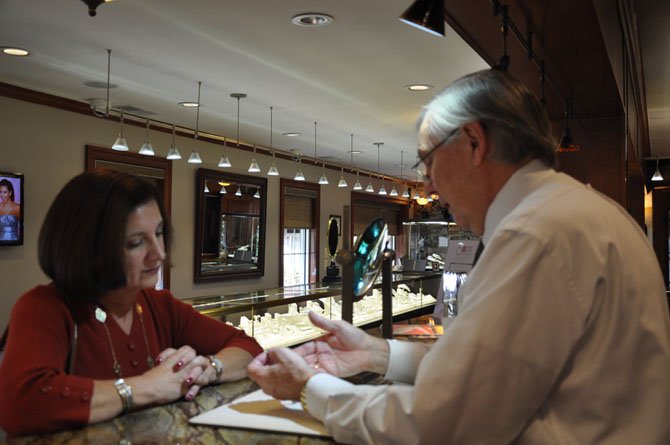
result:
<svg viewBox="0 0 670 445"><path fill-rule="evenodd" d="M0 246L23 245L23 175L0 172Z"/></svg>

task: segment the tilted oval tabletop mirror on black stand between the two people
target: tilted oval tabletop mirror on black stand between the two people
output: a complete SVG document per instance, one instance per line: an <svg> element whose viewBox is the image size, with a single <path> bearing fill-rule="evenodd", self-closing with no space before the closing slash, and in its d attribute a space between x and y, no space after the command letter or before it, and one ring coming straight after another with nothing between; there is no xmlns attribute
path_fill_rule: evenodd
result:
<svg viewBox="0 0 670 445"><path fill-rule="evenodd" d="M384 219L377 218L356 240L353 250L354 300L360 300L379 275L387 232Z"/></svg>

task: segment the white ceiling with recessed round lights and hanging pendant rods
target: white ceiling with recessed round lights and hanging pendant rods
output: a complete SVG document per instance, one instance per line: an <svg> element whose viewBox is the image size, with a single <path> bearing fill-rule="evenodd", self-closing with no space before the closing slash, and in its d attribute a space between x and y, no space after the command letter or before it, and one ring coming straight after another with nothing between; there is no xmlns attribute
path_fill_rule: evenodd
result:
<svg viewBox="0 0 670 445"><path fill-rule="evenodd" d="M195 126L195 110L177 105L197 99L202 81L200 131L278 150L301 149L350 163L350 134L358 168L400 175L416 156L414 125L420 107L453 79L486 68L451 29L439 38L398 16L412 0L115 0L89 17L78 0L0 1L0 46L19 46L29 57L0 56L0 81L84 101L104 98L112 50L112 107L134 106L152 119ZM298 27L291 18L321 12L335 22ZM448 28L448 27L447 27ZM434 85L410 92L412 83ZM103 102L104 103L104 102ZM281 136L299 132L298 138ZM110 134L110 143L115 135ZM129 140L137 151L142 141ZM167 147L155 147L165 155ZM182 153L189 147L182 148ZM203 152L215 162L219 152ZM404 167L404 173L409 168Z"/></svg>

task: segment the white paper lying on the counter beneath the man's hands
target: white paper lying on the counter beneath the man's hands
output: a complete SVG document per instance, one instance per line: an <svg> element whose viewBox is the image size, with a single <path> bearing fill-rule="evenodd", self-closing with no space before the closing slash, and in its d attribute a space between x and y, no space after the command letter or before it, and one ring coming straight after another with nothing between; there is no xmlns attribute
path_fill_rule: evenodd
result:
<svg viewBox="0 0 670 445"><path fill-rule="evenodd" d="M332 437L321 422L303 411L300 402L277 400L260 389L192 417L189 422L227 428Z"/></svg>

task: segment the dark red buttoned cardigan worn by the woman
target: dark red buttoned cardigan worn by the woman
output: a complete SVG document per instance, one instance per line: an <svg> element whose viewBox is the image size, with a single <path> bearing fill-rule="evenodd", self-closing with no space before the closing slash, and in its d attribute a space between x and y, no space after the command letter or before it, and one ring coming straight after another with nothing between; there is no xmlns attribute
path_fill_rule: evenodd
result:
<svg viewBox="0 0 670 445"><path fill-rule="evenodd" d="M147 289L142 306L154 359L166 348L190 345L200 355L237 346L257 355L260 345L243 331L204 316L168 291ZM0 364L0 427L9 435L34 434L87 424L94 380L116 379L103 325L95 305L79 304L75 362L66 374L72 344L72 312L53 285L25 293L12 309L7 346ZM142 326L133 311L130 335L111 318L107 327L123 377L148 370Z"/></svg>

